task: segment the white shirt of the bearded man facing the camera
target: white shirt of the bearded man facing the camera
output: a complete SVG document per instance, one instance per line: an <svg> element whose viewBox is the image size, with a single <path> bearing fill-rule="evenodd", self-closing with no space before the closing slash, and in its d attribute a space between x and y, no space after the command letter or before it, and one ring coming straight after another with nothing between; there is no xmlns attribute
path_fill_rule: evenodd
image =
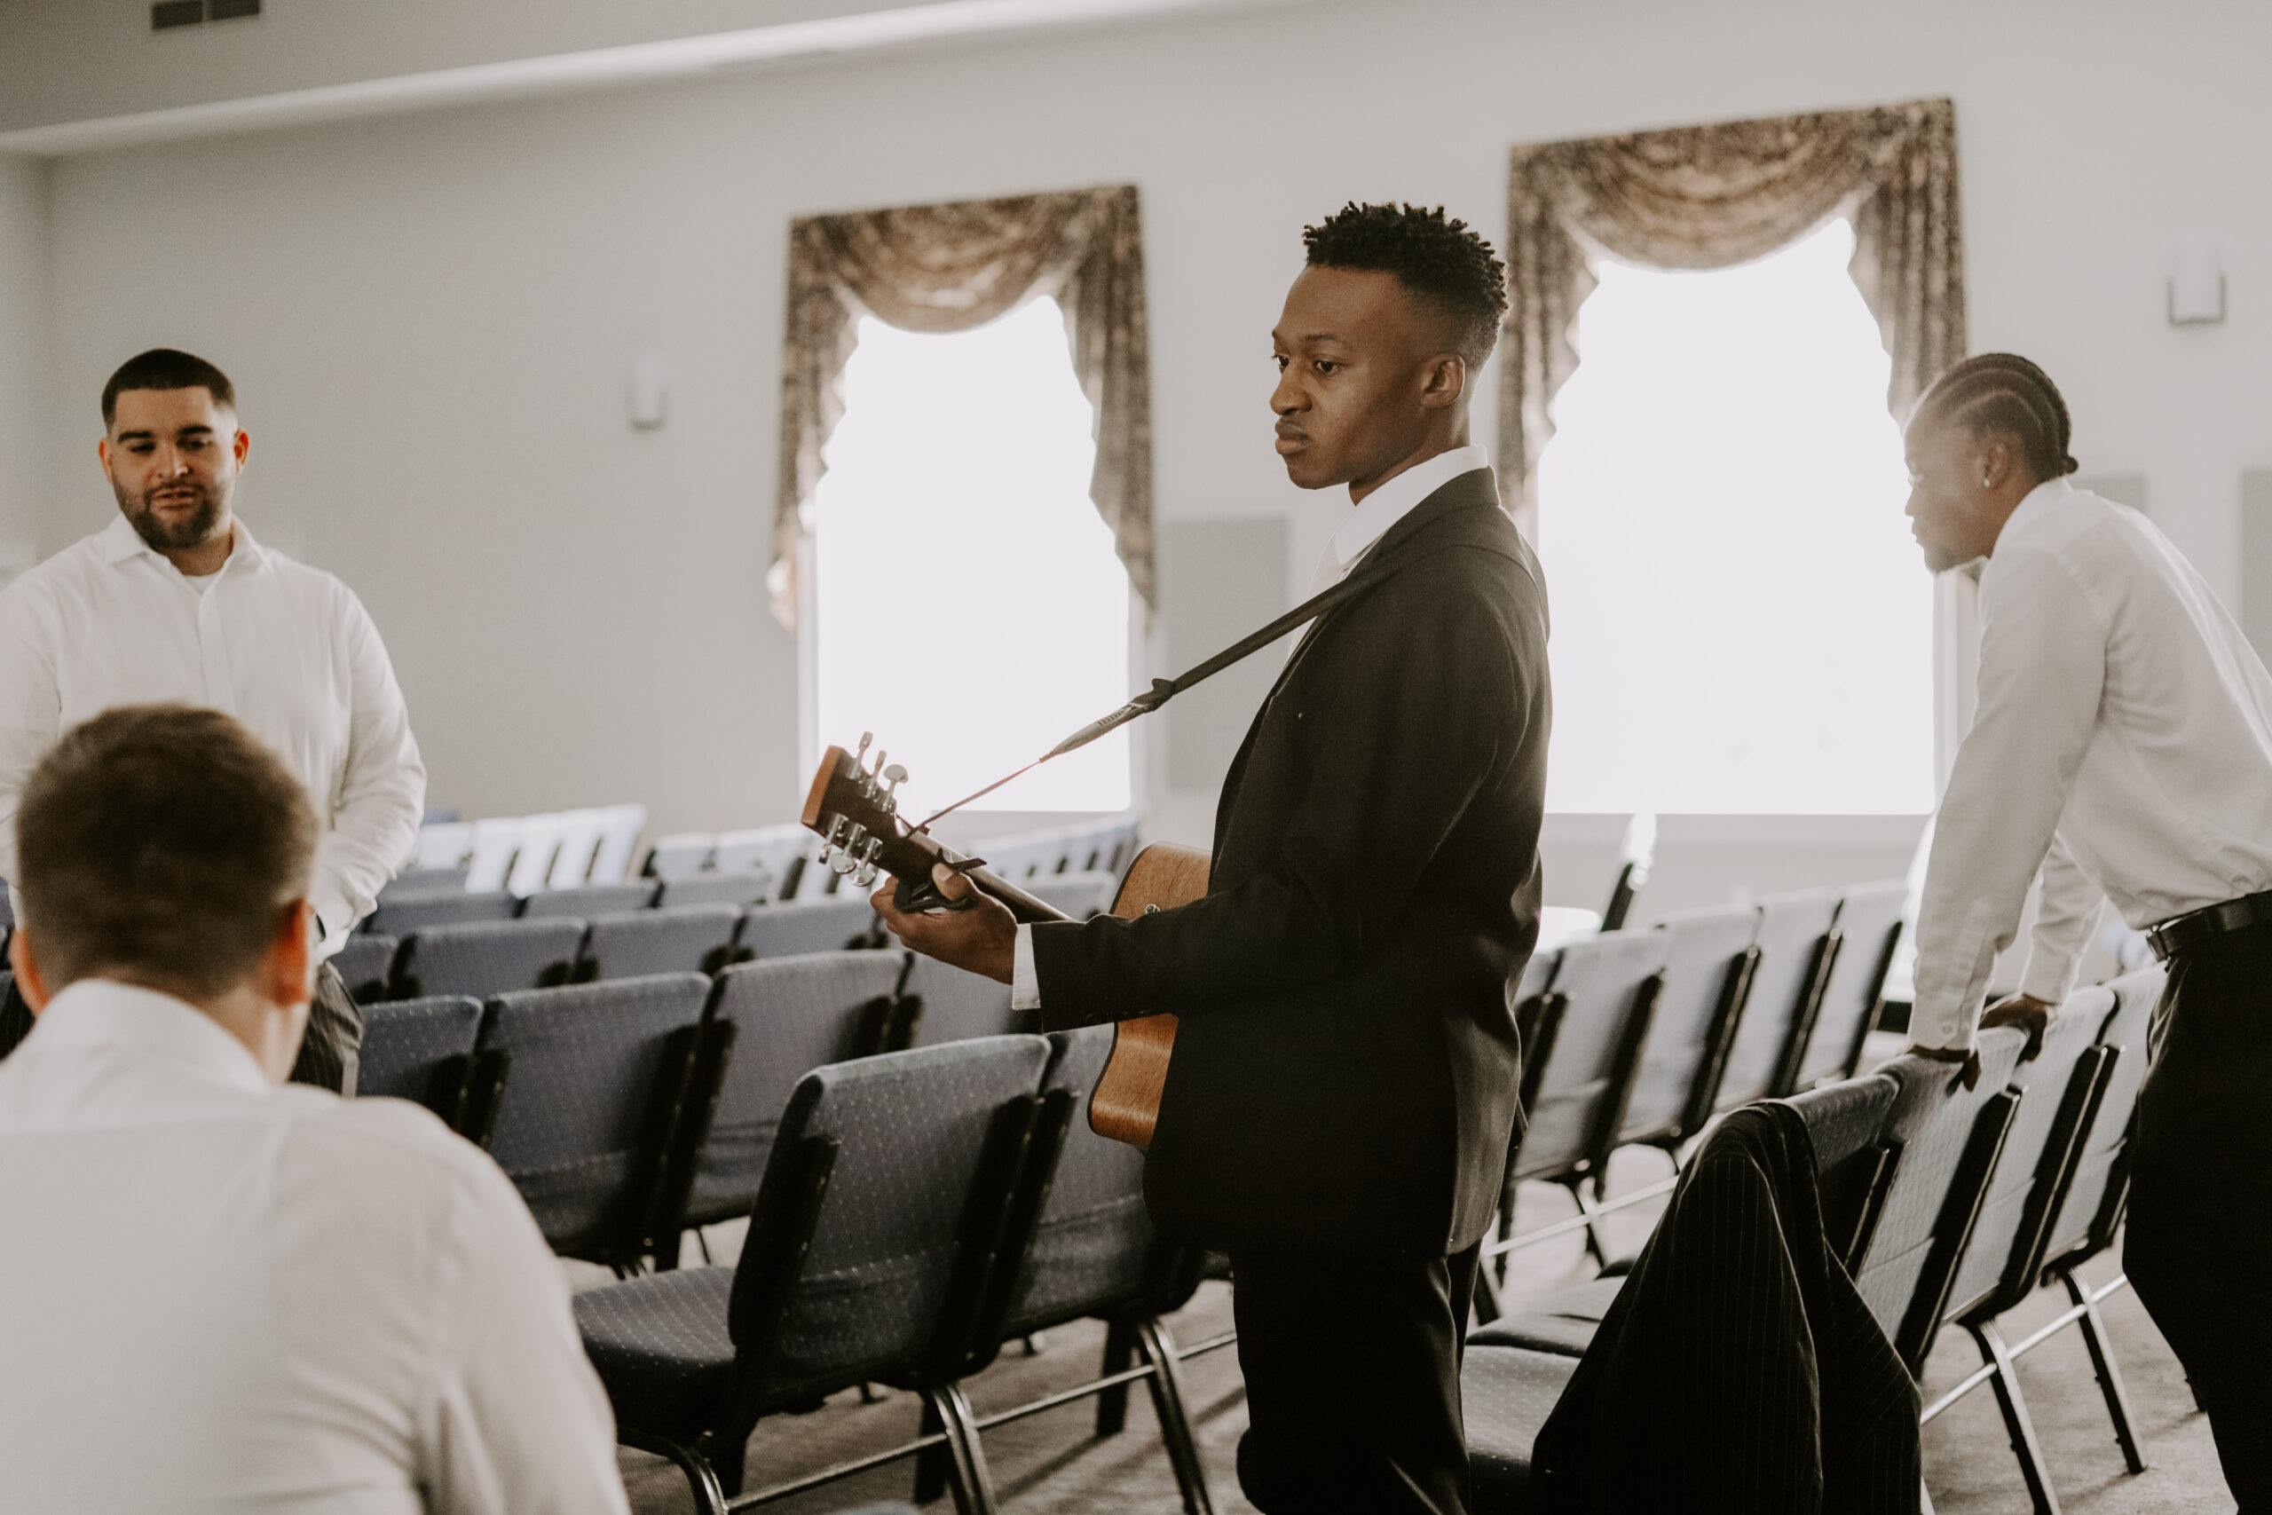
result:
<svg viewBox="0 0 2272 1515"><path fill-rule="evenodd" d="M336 952L409 856L425 763L386 645L332 575L252 541L184 577L125 516L0 591L0 879L16 802L57 736L118 704L227 711L316 802L314 902Z"/></svg>

